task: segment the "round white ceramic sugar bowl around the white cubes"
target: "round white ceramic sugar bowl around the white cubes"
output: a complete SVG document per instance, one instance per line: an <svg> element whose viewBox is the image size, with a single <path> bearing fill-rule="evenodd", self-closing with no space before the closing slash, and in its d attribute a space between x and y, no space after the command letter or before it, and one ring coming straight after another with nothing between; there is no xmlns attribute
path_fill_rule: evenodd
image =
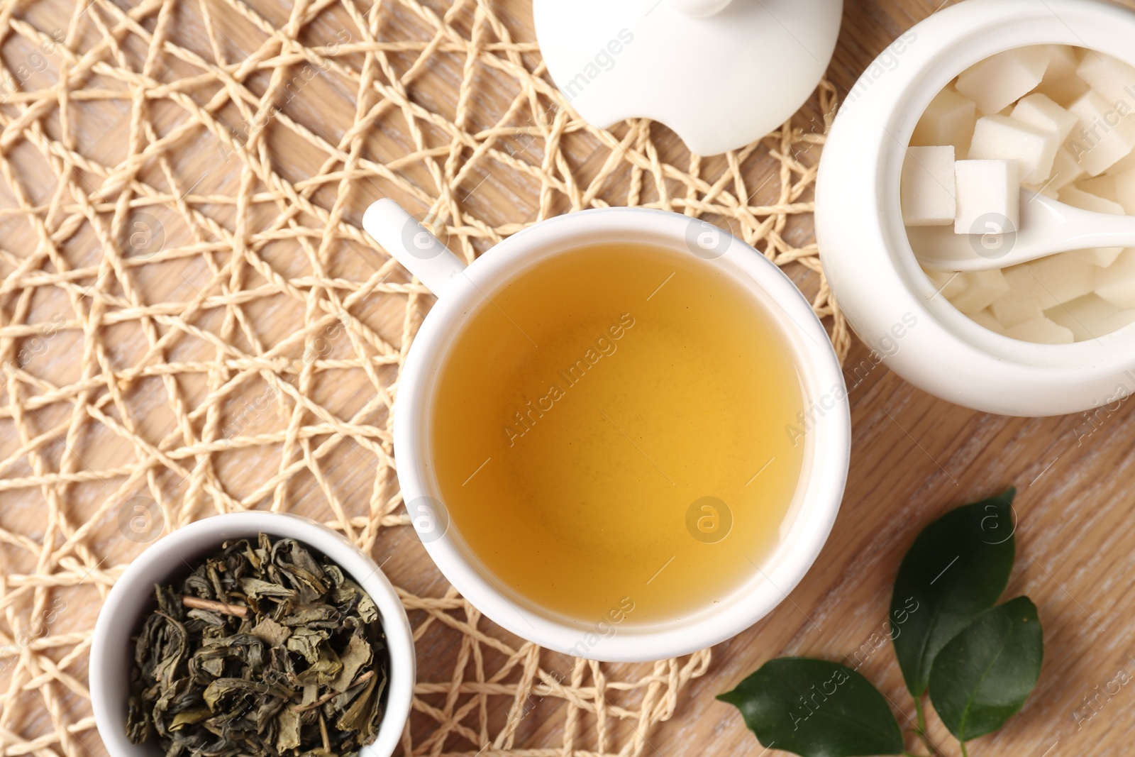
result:
<svg viewBox="0 0 1135 757"><path fill-rule="evenodd" d="M967 0L906 32L852 87L821 160L816 237L851 327L902 378L959 405L1008 415L1071 413L1135 394L1135 325L1061 345L985 329L935 296L899 208L915 124L964 69L1003 50L1050 43L1135 66L1133 41L1135 12L1107 2Z"/></svg>

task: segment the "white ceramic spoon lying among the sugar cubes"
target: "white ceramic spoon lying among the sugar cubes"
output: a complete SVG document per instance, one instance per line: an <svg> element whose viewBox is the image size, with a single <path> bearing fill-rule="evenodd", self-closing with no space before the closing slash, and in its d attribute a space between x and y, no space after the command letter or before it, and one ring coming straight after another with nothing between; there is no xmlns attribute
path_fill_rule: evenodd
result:
<svg viewBox="0 0 1135 757"><path fill-rule="evenodd" d="M994 234L943 234L941 227L911 227L910 246L923 268L984 271L1025 263L1069 250L1135 247L1135 216L1096 213L1020 191L1019 230Z"/></svg>

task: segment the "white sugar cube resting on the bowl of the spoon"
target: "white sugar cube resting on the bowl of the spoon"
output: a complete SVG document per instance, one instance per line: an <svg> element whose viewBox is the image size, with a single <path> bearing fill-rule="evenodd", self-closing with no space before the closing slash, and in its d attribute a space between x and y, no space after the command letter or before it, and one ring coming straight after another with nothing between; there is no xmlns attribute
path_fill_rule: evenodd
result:
<svg viewBox="0 0 1135 757"><path fill-rule="evenodd" d="M955 234L1016 232L1020 220L1020 179L1014 160L959 160L953 163ZM984 305L983 305L984 306Z"/></svg>

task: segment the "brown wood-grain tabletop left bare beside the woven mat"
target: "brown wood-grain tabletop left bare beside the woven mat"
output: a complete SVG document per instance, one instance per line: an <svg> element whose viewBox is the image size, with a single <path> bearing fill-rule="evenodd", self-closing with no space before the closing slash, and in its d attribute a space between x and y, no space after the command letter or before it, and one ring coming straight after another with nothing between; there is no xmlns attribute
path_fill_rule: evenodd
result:
<svg viewBox="0 0 1135 757"><path fill-rule="evenodd" d="M496 0L488 1L496 6ZM527 3L504 5L518 27L528 32L520 39L533 40ZM848 0L829 75L838 92L846 93L890 41L938 7L936 0ZM224 179L228 168L217 170ZM502 173L491 178L489 191L481 195L484 203L513 202L532 190L523 177ZM485 212L491 213L491 208ZM799 268L792 274L815 288L815 275ZM401 309L388 317L388 330L397 334ZM867 359L867 350L856 340L849 371ZM849 380L854 384L850 478L826 547L787 602L715 648L707 674L682 691L673 717L649 734L646 754L760 754L737 710L716 701L715 695L774 656L844 659L865 645L874 646L896 569L917 530L949 507L1009 485L1019 489L1018 558L1007 596L1027 594L1036 603L1044 625L1044 667L1025 709L1001 732L973 742L970 754L1130 752L1135 685L1111 696L1100 692L1109 685L1115 692L1111 682L1117 676L1126 680L1124 672L1135 676L1135 649L1129 649L1135 642L1126 633L1128 623L1135 623L1130 588L1135 528L1129 524L1135 488L1128 478L1135 472L1133 403L1093 417L1003 418L932 397L885 367L860 370L859 376L861 380ZM242 464L255 465L257 460ZM314 489L310 485L297 496ZM33 522L42 514L28 506L9 518ZM406 537L390 538L394 546L382 548L395 548ZM392 578L419 594L437 590L440 577L423 553L420 557L418 567L393 566ZM93 617L98 604L92 595L90 604L77 611L79 616ZM888 646L875 650L860 670L894 704L900 723L913 717ZM1094 709L1085 709L1088 700ZM956 742L933 717L932 722L931 734L942 751L957 754Z"/></svg>

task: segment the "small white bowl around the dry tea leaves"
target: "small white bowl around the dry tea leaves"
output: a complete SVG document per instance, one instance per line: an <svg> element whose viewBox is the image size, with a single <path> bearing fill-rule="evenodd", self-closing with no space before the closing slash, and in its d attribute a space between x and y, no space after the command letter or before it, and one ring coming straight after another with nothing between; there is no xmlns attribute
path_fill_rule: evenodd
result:
<svg viewBox="0 0 1135 757"><path fill-rule="evenodd" d="M162 537L138 555L107 596L91 642L91 706L110 757L161 757L155 741L131 743L126 705L134 666L133 637L154 607L155 583L174 582L220 550L222 541L258 533L295 539L337 563L370 595L382 617L389 650L386 713L375 741L359 757L389 757L410 716L414 692L414 642L406 611L386 575L359 547L321 523L284 513L243 512L205 518Z"/></svg>

